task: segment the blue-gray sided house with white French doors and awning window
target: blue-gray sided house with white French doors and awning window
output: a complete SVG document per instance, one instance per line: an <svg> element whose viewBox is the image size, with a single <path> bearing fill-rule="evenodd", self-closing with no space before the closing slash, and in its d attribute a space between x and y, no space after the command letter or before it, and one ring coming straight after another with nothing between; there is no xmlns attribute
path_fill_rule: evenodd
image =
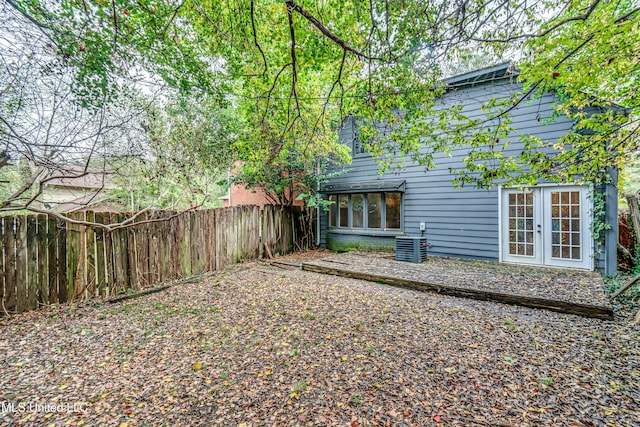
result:
<svg viewBox="0 0 640 427"><path fill-rule="evenodd" d="M465 111L479 110L483 101L519 92L510 64L502 64L450 78L455 90L443 103L462 103ZM520 104L512 112L518 133L555 140L573 126L566 118L543 125L551 115L554 95L535 105ZM464 148L435 159L436 167L408 164L400 173L380 175L376 161L357 138L354 120L345 121L340 138L350 145L353 161L332 178L322 192L335 202L319 221L320 245L334 250L394 248L395 236L425 236L432 255L475 258L518 264L616 271L617 191L613 185L539 184L518 189L455 188L449 172L461 167ZM523 146L513 136L510 149ZM606 218L611 225L605 241L591 234L593 192L605 194ZM597 249L596 249L597 248Z"/></svg>

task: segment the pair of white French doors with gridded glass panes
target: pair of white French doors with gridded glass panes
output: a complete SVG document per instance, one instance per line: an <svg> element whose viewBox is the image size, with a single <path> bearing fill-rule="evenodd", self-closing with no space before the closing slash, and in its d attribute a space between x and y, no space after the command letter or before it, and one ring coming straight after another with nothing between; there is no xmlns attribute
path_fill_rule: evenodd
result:
<svg viewBox="0 0 640 427"><path fill-rule="evenodd" d="M589 188L501 190L502 261L592 268Z"/></svg>

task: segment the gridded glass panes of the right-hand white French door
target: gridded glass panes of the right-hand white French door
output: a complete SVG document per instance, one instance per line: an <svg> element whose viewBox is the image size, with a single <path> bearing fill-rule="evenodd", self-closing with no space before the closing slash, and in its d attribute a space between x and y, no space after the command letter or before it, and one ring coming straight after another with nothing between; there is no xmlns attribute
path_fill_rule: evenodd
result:
<svg viewBox="0 0 640 427"><path fill-rule="evenodd" d="M551 193L551 257L580 260L580 192Z"/></svg>

